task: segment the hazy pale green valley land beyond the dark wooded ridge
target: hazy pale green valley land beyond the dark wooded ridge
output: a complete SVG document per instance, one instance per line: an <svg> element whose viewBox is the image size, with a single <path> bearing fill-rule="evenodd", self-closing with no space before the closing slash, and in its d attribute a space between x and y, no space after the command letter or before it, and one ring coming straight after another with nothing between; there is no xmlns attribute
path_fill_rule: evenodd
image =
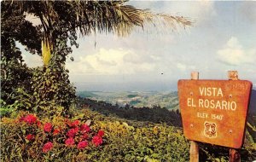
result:
<svg viewBox="0 0 256 162"><path fill-rule="evenodd" d="M120 107L130 105L133 107L166 107L167 109L178 109L177 92L103 92L103 91L79 91L80 97L87 97L95 101L106 101L118 104Z"/></svg>

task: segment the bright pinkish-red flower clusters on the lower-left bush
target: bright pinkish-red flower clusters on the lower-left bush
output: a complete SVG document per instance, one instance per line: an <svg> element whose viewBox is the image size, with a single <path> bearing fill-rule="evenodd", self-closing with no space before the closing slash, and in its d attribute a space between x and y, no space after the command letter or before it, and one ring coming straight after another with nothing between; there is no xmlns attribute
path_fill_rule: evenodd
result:
<svg viewBox="0 0 256 162"><path fill-rule="evenodd" d="M35 124L38 129L41 128L41 122L33 114L27 114L25 117L20 117L18 121L19 123L25 122L26 124L29 124L28 126L32 126L33 124ZM53 139L55 136L61 134L61 138L65 140L59 143L65 144L65 146L67 147L73 147L77 145L77 148L84 149L90 144L96 147L102 145L102 136L104 136L104 130L99 130L96 133L90 133L90 126L88 124L82 124L79 120L74 120L72 122L69 119L64 119L64 121L64 124L61 125L62 128L55 128L55 126L49 122L44 123L43 130L44 133L47 134L46 139ZM35 135L28 134L26 136L26 140L32 141L34 136ZM88 142L90 141L90 136L92 136L91 142ZM43 153L49 152L52 148L53 143L46 142L43 147Z"/></svg>

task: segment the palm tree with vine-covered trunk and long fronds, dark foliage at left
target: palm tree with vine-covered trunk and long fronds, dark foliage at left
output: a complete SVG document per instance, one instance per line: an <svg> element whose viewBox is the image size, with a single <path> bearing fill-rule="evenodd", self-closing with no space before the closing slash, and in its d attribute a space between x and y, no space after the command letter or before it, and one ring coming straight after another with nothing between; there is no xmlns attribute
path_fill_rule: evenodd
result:
<svg viewBox="0 0 256 162"><path fill-rule="evenodd" d="M65 62L67 55L72 52L71 46L78 47L79 35L85 37L96 32L113 32L122 37L129 35L135 26L143 29L148 23L172 29L176 26L191 26L191 21L182 16L153 14L147 9L125 5L125 2L12 0L1 3L2 59L22 60L15 41L25 45L32 53L43 56L44 67L36 71L37 75L33 75L32 90L26 90L31 91L30 96L34 96L34 101L37 101L32 102L34 107L39 107L41 103L46 107L45 104L49 105L50 101L67 109L71 105L75 90L69 82ZM38 17L41 25L32 26L26 20L27 14ZM7 64L1 65L3 69L9 68ZM17 91L13 86L7 88ZM49 103L44 104L45 101ZM35 110L38 111L37 108Z"/></svg>

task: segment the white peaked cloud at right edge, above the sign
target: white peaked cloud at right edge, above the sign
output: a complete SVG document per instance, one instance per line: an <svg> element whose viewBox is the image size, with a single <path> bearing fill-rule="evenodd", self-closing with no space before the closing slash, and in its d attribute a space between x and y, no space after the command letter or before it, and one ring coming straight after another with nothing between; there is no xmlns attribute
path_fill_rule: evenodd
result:
<svg viewBox="0 0 256 162"><path fill-rule="evenodd" d="M219 49L217 54L219 61L232 66L256 61L256 49L243 48L236 37L231 37L224 45L224 49Z"/></svg>

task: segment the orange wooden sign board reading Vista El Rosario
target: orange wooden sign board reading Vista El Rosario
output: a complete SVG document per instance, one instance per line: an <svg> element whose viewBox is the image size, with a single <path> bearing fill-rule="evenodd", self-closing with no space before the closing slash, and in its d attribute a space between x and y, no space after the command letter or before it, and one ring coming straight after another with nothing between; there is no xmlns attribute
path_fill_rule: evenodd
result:
<svg viewBox="0 0 256 162"><path fill-rule="evenodd" d="M246 80L179 80L184 135L193 141L241 148L252 83Z"/></svg>

